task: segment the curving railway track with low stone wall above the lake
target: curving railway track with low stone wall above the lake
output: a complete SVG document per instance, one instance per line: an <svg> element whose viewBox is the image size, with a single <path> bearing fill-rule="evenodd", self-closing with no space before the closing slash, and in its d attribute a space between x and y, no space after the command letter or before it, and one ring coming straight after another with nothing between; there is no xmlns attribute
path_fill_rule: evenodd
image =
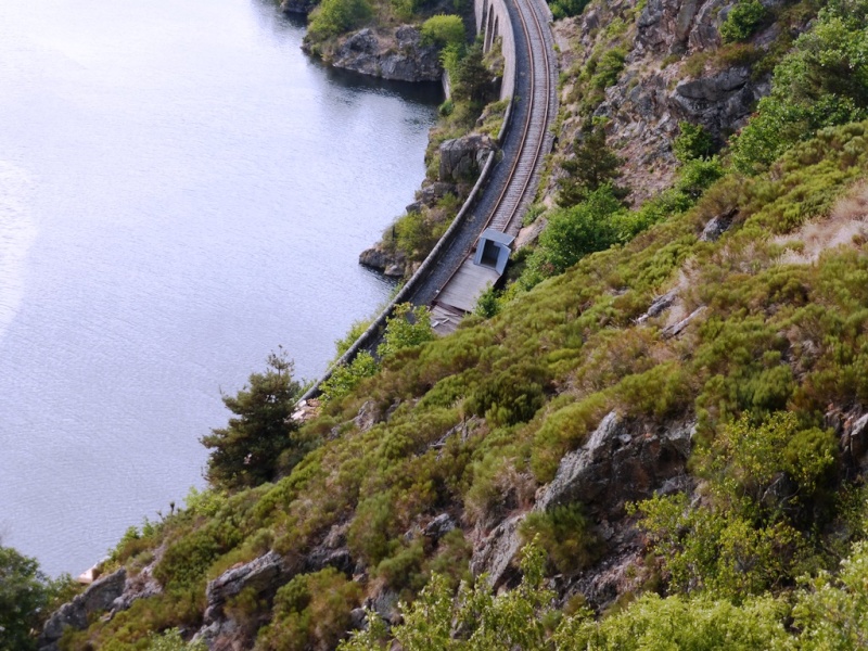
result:
<svg viewBox="0 0 868 651"><path fill-rule="evenodd" d="M361 350L375 352L386 319L399 303L434 306L434 316L437 310L446 315L446 329L439 332L454 329L487 284L482 277L472 279L470 289L467 279L461 281L462 269L480 269L470 256L482 232L487 228L508 235L519 232L521 218L536 194L545 155L554 139L550 126L557 113L557 79L553 40L548 28L550 13L545 0L503 2L515 36L514 94L500 135L503 159L496 163L494 154L489 155L476 187L419 271L302 400L318 395L320 384L337 366L350 362ZM447 301L456 293L465 294L461 302L454 302L461 304L458 307Z"/></svg>

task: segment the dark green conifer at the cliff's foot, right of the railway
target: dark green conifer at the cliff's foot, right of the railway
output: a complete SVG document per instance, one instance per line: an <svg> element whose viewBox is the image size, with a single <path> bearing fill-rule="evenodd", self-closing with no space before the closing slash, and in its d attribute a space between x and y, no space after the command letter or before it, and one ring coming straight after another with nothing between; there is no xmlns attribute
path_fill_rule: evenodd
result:
<svg viewBox="0 0 868 651"><path fill-rule="evenodd" d="M602 127L577 135L573 141L573 154L561 164L567 175L559 181L558 204L563 207L582 203L603 183L611 184L621 176L624 163L607 146ZM622 199L627 194L625 189L616 186L612 186L612 191Z"/></svg>

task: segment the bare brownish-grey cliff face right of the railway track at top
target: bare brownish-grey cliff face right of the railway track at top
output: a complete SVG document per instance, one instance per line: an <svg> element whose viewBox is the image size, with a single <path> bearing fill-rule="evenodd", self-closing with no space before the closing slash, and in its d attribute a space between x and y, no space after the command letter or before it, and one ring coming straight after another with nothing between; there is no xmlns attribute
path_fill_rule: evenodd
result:
<svg viewBox="0 0 868 651"><path fill-rule="evenodd" d="M584 97L575 95L575 84L564 85L561 153L569 155L566 145L583 124L604 119L608 142L625 161L622 182L641 202L672 181L679 122L702 125L718 143L741 128L770 88L769 75L757 74L753 63L781 28L773 24L749 43L725 46L719 27L733 5L732 0L649 0L637 14L630 0L592 2L580 16L556 23L564 71L587 68L608 47L627 51L617 81L590 113Z"/></svg>

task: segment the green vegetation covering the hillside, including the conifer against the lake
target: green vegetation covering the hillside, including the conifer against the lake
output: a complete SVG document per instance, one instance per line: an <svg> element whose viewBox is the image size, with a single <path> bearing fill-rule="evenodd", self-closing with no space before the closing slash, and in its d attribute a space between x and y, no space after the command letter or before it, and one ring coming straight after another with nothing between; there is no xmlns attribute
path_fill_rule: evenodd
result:
<svg viewBox="0 0 868 651"><path fill-rule="evenodd" d="M637 136L668 138L639 188L610 108L646 8L574 8L510 284L444 339L397 315L303 424L272 358L204 438L212 487L113 551L124 608L60 648L864 648L868 3L717 7L664 67L740 44L750 119Z"/></svg>

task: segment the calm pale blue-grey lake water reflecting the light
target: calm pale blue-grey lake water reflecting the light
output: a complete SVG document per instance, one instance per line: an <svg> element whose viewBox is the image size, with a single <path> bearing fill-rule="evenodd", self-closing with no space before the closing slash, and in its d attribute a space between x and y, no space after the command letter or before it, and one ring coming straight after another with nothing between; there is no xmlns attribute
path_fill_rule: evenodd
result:
<svg viewBox="0 0 868 651"><path fill-rule="evenodd" d="M266 0L0 2L0 536L78 574L202 486L199 438L391 286L441 100L337 75Z"/></svg>

